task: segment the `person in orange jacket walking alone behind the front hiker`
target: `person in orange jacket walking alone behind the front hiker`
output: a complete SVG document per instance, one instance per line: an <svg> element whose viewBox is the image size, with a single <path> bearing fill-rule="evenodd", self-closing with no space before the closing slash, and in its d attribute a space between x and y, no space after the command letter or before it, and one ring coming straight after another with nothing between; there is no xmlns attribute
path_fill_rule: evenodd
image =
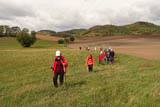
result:
<svg viewBox="0 0 160 107"><path fill-rule="evenodd" d="M88 65L88 71L92 72L93 71L93 65L94 65L94 57L92 56L92 54L90 54L87 57L86 64Z"/></svg>

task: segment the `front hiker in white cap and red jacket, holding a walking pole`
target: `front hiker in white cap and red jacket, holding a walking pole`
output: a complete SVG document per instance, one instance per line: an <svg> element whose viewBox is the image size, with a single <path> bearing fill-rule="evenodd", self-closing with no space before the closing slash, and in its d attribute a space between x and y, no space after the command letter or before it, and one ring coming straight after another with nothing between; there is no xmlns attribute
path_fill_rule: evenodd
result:
<svg viewBox="0 0 160 107"><path fill-rule="evenodd" d="M67 61L65 60L65 58L63 56L61 56L60 51L56 51L56 58L54 59L53 62L53 84L54 86L57 88L58 84L57 84L57 79L58 79L58 75L60 76L60 85L63 85L63 78L64 75L66 73L66 67L68 66Z"/></svg>

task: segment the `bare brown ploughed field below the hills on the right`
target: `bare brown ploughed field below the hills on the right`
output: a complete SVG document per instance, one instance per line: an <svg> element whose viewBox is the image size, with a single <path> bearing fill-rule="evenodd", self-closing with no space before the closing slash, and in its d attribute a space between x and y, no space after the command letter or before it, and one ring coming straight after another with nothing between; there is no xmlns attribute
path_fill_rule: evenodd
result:
<svg viewBox="0 0 160 107"><path fill-rule="evenodd" d="M111 47L116 53L123 53L147 59L160 60L160 35L86 37L77 39L70 48L79 46L93 49Z"/></svg>

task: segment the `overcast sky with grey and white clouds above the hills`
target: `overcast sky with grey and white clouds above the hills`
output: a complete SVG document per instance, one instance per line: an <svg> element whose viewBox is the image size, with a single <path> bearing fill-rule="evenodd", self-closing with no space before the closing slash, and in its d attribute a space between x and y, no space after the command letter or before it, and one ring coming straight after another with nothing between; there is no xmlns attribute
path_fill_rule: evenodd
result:
<svg viewBox="0 0 160 107"><path fill-rule="evenodd" d="M36 31L136 21L160 25L160 0L0 0L0 25Z"/></svg>

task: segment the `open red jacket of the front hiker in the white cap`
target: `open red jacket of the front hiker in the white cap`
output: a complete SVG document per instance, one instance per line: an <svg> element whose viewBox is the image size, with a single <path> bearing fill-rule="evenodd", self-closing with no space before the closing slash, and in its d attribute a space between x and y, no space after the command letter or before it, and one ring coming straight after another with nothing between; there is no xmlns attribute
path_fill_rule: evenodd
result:
<svg viewBox="0 0 160 107"><path fill-rule="evenodd" d="M57 57L53 61L53 75L54 75L55 70L56 70L56 64L57 64L56 59L57 59ZM61 56L61 63L62 63L62 65L63 65L63 63L65 63L65 66L63 66L63 70L66 73L66 67L68 66L68 63L63 56Z"/></svg>

